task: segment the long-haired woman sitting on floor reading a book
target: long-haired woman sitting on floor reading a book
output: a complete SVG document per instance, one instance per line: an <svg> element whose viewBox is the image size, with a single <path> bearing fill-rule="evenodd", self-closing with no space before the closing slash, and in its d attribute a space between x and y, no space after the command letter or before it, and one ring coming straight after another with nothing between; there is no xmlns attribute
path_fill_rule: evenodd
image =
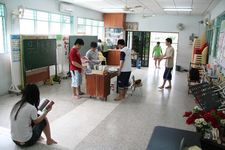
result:
<svg viewBox="0 0 225 150"><path fill-rule="evenodd" d="M49 122L46 118L52 107L38 116L40 92L35 84L28 84L23 92L22 99L17 102L10 113L11 136L16 145L31 146L41 137L42 131L46 136L46 144L56 144L51 138Z"/></svg>

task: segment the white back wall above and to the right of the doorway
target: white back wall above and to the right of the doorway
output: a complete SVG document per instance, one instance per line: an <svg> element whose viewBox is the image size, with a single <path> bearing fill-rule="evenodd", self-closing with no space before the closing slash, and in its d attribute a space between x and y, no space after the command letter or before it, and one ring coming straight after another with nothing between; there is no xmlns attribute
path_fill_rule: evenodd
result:
<svg viewBox="0 0 225 150"><path fill-rule="evenodd" d="M192 53L189 36L192 33L201 36L204 27L198 22L202 18L202 16L155 16L143 18L141 15L128 15L126 21L138 22L139 31L179 32L177 65L187 69ZM177 29L178 23L184 24L185 29L183 31Z"/></svg>

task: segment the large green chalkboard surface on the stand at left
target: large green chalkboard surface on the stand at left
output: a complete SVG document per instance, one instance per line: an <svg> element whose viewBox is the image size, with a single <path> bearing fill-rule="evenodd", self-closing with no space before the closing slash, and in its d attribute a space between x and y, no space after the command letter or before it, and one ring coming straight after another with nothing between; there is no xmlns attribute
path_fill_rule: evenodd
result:
<svg viewBox="0 0 225 150"><path fill-rule="evenodd" d="M25 71L56 65L56 40L23 40L23 58Z"/></svg>

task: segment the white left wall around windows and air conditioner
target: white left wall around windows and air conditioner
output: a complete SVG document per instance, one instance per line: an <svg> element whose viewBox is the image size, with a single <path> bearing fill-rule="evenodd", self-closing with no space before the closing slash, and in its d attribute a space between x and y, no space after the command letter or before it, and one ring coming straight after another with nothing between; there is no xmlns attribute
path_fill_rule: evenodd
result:
<svg viewBox="0 0 225 150"><path fill-rule="evenodd" d="M7 37L8 43L10 43L10 35L19 33L19 22L12 22L11 12L17 10L19 5L22 5L24 8L48 11L52 13L59 12L59 1L58 0L0 0L1 3L6 5L7 9ZM92 11L89 9L81 8L74 6L74 12L71 14L74 16L74 28L75 31L73 34L76 34L77 31L77 17L91 18L95 20L103 20L103 15L100 12ZM8 51L10 52L10 44L8 44ZM11 84L11 67L10 67L10 54L0 54L0 95L7 92ZM7 67L6 67L7 66ZM20 76L20 63L12 63L12 80L16 85L20 85L21 76ZM4 78L2 78L4 76ZM4 79L4 82L2 81Z"/></svg>

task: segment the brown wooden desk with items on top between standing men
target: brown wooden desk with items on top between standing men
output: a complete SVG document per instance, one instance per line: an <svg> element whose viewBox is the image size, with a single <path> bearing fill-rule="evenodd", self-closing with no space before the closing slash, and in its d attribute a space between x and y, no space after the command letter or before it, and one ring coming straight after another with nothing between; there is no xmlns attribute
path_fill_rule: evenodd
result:
<svg viewBox="0 0 225 150"><path fill-rule="evenodd" d="M110 80L117 76L118 71L104 74L86 74L86 94L107 100L110 94Z"/></svg>

